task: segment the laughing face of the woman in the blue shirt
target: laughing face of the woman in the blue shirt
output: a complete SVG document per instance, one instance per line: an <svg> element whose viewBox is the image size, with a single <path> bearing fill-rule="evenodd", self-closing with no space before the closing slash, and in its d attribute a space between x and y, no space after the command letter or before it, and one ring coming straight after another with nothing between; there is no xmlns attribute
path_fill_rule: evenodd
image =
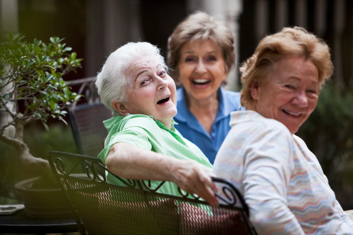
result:
<svg viewBox="0 0 353 235"><path fill-rule="evenodd" d="M178 80L189 98L207 100L216 97L227 79L222 49L211 40L189 41L180 49Z"/></svg>

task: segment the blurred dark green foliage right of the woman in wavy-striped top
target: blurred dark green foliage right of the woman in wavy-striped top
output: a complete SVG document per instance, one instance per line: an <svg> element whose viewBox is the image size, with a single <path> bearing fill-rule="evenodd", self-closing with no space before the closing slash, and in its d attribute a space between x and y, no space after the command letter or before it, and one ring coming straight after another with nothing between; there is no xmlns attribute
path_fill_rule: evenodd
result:
<svg viewBox="0 0 353 235"><path fill-rule="evenodd" d="M342 207L352 209L353 91L337 92L327 84L297 135L318 158Z"/></svg>

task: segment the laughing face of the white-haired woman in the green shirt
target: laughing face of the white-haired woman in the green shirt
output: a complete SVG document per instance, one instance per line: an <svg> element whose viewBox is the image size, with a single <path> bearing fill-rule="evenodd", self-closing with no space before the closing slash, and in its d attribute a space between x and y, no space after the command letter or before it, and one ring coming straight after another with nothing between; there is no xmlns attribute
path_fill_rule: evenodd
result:
<svg viewBox="0 0 353 235"><path fill-rule="evenodd" d="M143 114L164 124L170 122L177 114L176 88L163 66L146 57L134 62L126 74L127 101L121 103L120 113Z"/></svg>

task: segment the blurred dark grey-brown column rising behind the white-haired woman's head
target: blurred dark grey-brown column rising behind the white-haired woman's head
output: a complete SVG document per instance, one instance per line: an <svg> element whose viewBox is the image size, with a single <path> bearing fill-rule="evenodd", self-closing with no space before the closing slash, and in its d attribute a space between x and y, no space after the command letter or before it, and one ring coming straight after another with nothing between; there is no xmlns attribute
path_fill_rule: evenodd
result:
<svg viewBox="0 0 353 235"><path fill-rule="evenodd" d="M142 41L139 0L87 0L86 76L95 76L111 52Z"/></svg>

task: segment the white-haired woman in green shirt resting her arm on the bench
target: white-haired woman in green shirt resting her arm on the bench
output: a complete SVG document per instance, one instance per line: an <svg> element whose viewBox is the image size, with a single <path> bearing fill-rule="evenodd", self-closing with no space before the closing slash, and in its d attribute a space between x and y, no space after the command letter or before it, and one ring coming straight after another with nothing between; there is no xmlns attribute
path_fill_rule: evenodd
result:
<svg viewBox="0 0 353 235"><path fill-rule="evenodd" d="M98 155L110 172L152 180L152 187L155 181L168 181L158 192L177 195L179 186L218 204L211 163L174 128L175 83L157 47L137 42L118 48L97 75L96 87L102 103L113 112L103 122L108 136ZM120 184L110 174L107 180Z"/></svg>

